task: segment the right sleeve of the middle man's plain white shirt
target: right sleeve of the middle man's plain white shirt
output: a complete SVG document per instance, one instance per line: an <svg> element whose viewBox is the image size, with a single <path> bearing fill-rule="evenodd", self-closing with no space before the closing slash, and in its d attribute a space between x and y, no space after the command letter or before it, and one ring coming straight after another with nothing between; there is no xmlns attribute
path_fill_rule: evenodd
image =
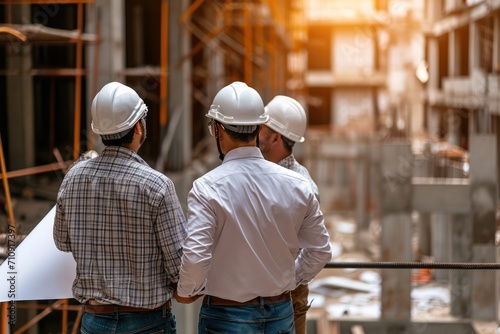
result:
<svg viewBox="0 0 500 334"><path fill-rule="evenodd" d="M301 285L309 283L332 258L325 218L313 194L298 238L301 250L295 260L295 275L297 285Z"/></svg>

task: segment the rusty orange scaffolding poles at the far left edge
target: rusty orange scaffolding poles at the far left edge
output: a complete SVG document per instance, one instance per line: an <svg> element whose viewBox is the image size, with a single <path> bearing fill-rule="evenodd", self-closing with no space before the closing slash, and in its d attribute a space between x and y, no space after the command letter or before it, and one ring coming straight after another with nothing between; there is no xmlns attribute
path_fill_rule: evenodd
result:
<svg viewBox="0 0 500 334"><path fill-rule="evenodd" d="M52 164L47 164L43 166L29 167L21 170L7 172L5 166L5 155L2 146L2 141L0 137L0 161L1 161L1 179L3 182L3 188L6 197L6 207L9 216L9 230L16 231L16 223L14 220L14 213L11 202L11 195L9 189L8 179L19 176L33 175L37 173L45 173L49 171L63 170L65 171L68 166L79 156L80 154L80 119L81 119L81 105L82 105L82 77L87 75L87 71L83 68L83 45L84 43L95 43L96 48L96 59L99 44L99 27L96 29L96 34L84 33L84 5L91 4L94 0L57 0L57 1L47 1L47 0L2 0L0 5L5 5L6 7L6 24L0 25L0 43L8 45L20 45L20 44L35 44L35 43L72 43L76 46L76 64L74 68L51 68L51 69L31 69L29 75L31 76L73 76L75 78L75 99L74 99L74 136L73 136L73 160L63 161L57 150L54 150L54 155L56 156L57 162ZM40 24L14 24L12 22L12 6L15 5L47 5L47 4L74 4L77 6L77 28L73 31L54 29L45 27ZM98 20L99 23L99 20ZM95 64L97 65L97 64ZM98 66L94 66L94 71L97 73ZM19 71L7 71L5 73L0 73L1 75L19 75ZM94 75L94 78L96 75ZM94 84L95 90L95 84ZM1 136L1 134L0 134ZM14 235L15 236L15 235ZM0 332L8 333L9 326L9 309L7 302L2 303L1 306L1 317L0 317ZM28 323L21 326L15 333L20 334L25 332L27 329L36 324L39 320L44 318L53 310L62 311L62 333L67 333L67 321L68 321L68 311L78 311L77 320L82 316L82 311L80 307L72 306L68 304L68 300L58 300L52 305L38 305L33 303L23 303L23 305L18 305L18 308L23 309L43 309L41 313L31 319ZM77 326L73 329L73 333L76 333Z"/></svg>

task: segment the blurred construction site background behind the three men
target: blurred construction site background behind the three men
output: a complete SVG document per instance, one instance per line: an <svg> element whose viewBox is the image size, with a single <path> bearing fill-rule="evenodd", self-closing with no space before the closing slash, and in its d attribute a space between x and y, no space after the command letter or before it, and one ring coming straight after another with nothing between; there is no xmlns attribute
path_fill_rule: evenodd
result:
<svg viewBox="0 0 500 334"><path fill-rule="evenodd" d="M500 0L0 0L2 260L8 224L22 242L68 166L102 150L102 86L144 99L139 154L185 207L220 163L204 115L236 80L306 109L294 154L318 184L332 261L497 262ZM496 333L496 271L366 272L322 271L310 333ZM441 290L422 302L418 287ZM53 302L18 303L12 332L75 331L72 300L40 316ZM179 333L198 307L178 305Z"/></svg>

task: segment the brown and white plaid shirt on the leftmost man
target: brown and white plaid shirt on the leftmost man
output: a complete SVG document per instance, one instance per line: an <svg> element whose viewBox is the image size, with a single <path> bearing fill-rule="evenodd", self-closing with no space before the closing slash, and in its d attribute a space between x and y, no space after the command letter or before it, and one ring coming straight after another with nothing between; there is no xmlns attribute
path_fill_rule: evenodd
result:
<svg viewBox="0 0 500 334"><path fill-rule="evenodd" d="M54 241L75 258L73 295L155 308L172 298L186 236L172 181L117 146L78 162L57 196Z"/></svg>

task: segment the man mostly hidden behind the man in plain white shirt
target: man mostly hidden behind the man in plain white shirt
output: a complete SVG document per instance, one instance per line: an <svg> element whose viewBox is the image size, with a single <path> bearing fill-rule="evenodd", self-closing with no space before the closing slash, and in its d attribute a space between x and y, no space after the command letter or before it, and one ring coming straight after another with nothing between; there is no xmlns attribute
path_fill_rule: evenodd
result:
<svg viewBox="0 0 500 334"><path fill-rule="evenodd" d="M288 96L277 95L265 107L267 122L259 132L259 147L266 160L291 169L303 175L319 200L318 186L309 171L293 155L295 143L304 142L307 127L306 112L300 103ZM295 330L297 334L306 333L306 313L309 310L309 288L300 284L292 291Z"/></svg>

